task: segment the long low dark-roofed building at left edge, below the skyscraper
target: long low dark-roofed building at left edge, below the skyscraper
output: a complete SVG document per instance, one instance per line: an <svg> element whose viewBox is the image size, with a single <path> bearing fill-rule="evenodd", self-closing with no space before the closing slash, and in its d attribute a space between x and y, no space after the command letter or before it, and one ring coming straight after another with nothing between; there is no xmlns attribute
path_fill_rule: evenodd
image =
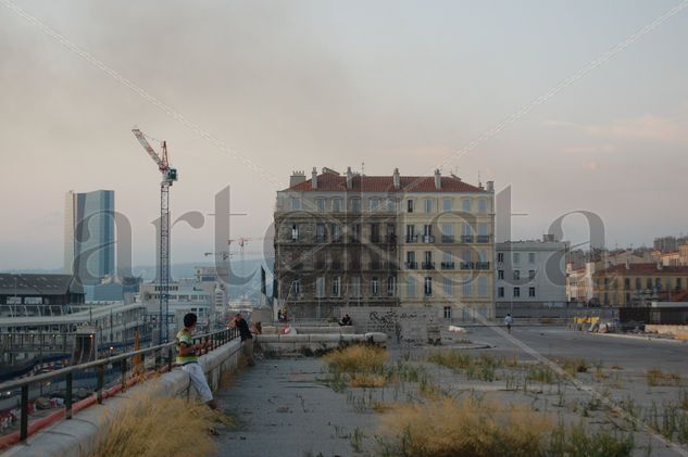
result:
<svg viewBox="0 0 688 457"><path fill-rule="evenodd" d="M0 274L0 316L59 316L84 302L72 275Z"/></svg>

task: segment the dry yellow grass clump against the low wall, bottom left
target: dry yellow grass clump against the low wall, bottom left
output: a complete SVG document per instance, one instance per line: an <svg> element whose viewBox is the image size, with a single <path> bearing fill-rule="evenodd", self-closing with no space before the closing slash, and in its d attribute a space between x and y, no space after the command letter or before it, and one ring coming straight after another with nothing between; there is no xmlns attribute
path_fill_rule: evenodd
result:
<svg viewBox="0 0 688 457"><path fill-rule="evenodd" d="M203 456L217 450L210 429L218 415L201 403L138 394L113 417L93 457Z"/></svg>

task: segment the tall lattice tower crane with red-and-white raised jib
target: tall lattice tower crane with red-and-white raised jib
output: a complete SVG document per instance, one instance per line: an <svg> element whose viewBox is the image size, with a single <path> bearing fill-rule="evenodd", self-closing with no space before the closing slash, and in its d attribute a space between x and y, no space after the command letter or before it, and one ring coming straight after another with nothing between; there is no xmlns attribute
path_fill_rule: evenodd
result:
<svg viewBox="0 0 688 457"><path fill-rule="evenodd" d="M162 174L162 181L160 181L160 271L158 274L160 321L158 327L160 329L159 343L163 344L167 342L168 337L167 313L170 310L170 187L177 180L177 169L170 166L166 141L161 141L160 143L160 149L162 150L161 158L141 130L134 128L132 131Z"/></svg>

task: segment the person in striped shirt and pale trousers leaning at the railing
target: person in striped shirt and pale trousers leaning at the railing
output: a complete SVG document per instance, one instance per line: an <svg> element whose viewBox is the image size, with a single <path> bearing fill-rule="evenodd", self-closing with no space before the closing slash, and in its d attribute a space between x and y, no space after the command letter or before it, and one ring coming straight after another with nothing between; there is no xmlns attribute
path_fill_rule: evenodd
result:
<svg viewBox="0 0 688 457"><path fill-rule="evenodd" d="M208 385L208 380L203 373L203 368L198 363L197 352L203 350L208 345L204 343L193 344L191 335L196 330L198 317L193 313L184 316L184 329L177 332L177 364L182 365L182 369L189 373L191 384L198 392L201 401L211 409L217 409L217 402L213 398L213 392Z"/></svg>

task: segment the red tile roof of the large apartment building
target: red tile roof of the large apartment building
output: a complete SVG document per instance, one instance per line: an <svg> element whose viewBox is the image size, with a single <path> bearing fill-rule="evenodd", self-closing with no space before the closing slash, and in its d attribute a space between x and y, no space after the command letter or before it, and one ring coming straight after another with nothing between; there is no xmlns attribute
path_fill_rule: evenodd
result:
<svg viewBox="0 0 688 457"><path fill-rule="evenodd" d="M296 191L336 191L336 192L393 192L395 181L391 176L354 176L351 189L347 189L347 177L334 173L317 175L317 189L313 189L312 179L300 182L286 190ZM402 176L400 178L403 192L485 192L485 189L463 182L453 176L442 176L440 189L435 188L434 176Z"/></svg>

